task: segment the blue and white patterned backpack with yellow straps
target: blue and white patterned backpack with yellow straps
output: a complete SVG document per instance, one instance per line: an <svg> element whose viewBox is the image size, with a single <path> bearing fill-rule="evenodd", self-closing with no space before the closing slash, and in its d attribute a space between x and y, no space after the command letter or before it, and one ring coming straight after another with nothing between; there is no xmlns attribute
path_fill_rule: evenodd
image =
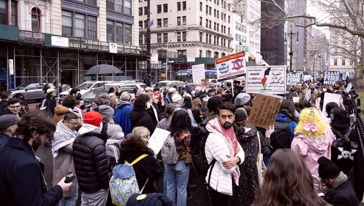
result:
<svg viewBox="0 0 364 206"><path fill-rule="evenodd" d="M116 165L113 168L113 176L110 179L109 188L111 199L114 205L125 206L131 195L143 192L143 189L149 178L147 179L143 188L139 190L133 165L146 156L148 156L148 154L142 154L130 164L125 161L124 164Z"/></svg>

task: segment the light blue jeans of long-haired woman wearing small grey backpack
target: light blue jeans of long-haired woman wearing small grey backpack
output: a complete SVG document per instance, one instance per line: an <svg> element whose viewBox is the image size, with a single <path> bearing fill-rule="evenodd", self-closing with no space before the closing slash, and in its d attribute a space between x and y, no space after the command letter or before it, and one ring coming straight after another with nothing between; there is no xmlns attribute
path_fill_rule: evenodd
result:
<svg viewBox="0 0 364 206"><path fill-rule="evenodd" d="M167 180L167 197L175 202L177 190L177 206L186 206L189 165L184 163L184 161L178 161L175 165L165 165L164 173L166 174Z"/></svg>

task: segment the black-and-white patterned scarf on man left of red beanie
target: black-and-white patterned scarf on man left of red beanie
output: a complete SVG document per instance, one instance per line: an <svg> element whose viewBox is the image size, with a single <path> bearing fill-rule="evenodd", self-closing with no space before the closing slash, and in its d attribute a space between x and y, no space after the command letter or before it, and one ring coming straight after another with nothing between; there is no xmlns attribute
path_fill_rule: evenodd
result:
<svg viewBox="0 0 364 206"><path fill-rule="evenodd" d="M57 123L56 132L54 133L54 141L52 143L52 154L56 157L58 150L62 147L73 143L79 133L75 130L67 128L63 124L63 119Z"/></svg>

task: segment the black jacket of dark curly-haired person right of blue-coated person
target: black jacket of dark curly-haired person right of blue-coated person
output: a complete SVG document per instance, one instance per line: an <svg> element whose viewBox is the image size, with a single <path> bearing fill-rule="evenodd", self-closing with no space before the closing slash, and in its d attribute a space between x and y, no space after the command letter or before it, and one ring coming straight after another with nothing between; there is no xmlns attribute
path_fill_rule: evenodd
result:
<svg viewBox="0 0 364 206"><path fill-rule="evenodd" d="M134 107L129 115L131 128L143 126L149 129L152 135L155 127L157 126L157 124L152 119L152 115L154 114L146 108Z"/></svg>

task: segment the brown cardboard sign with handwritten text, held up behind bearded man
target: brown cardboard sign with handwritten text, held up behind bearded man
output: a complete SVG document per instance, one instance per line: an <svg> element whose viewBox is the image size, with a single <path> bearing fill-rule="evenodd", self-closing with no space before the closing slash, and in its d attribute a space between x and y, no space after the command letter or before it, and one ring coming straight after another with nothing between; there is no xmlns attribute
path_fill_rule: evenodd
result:
<svg viewBox="0 0 364 206"><path fill-rule="evenodd" d="M283 97L267 92L261 92L255 97L247 125L269 129L275 121Z"/></svg>

